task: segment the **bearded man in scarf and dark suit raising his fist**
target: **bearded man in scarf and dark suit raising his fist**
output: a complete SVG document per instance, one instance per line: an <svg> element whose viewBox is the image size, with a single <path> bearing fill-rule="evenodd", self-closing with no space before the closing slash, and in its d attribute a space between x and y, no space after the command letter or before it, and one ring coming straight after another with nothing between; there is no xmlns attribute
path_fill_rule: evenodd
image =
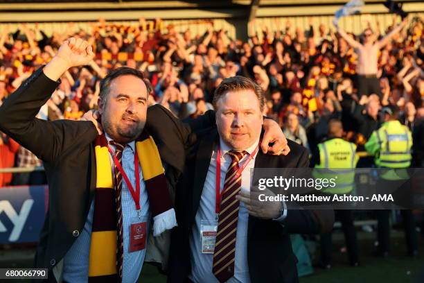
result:
<svg viewBox="0 0 424 283"><path fill-rule="evenodd" d="M35 119L62 74L93 56L88 42L65 41L0 108L1 130L44 161L49 205L35 265L48 268L48 282L135 282L143 261L166 261L166 231L177 225L169 190L191 128L160 105L147 107L143 73L122 67L102 81L101 132L90 121ZM203 117L191 127L212 124ZM161 241L147 241L150 231Z"/></svg>

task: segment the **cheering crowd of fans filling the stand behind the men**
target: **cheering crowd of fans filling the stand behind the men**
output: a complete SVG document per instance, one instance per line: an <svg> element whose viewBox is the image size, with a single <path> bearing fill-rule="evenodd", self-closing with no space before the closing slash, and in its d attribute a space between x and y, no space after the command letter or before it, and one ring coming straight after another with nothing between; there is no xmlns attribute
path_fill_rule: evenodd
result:
<svg viewBox="0 0 424 283"><path fill-rule="evenodd" d="M78 31L71 23L67 32L51 36L38 25L6 27L0 32L0 103L46 64L64 39L83 37L93 45L96 59L67 72L40 118L78 120L87 110L96 109L100 79L123 65L148 74L154 87L150 105L160 103L182 119L211 109L214 89L222 79L242 75L263 88L264 114L279 121L285 135L311 153L326 138L328 121L333 118L342 120L346 139L354 141L360 151L380 125L381 108L398 105L401 122L414 135L414 166L423 166L423 19L411 18L403 25L394 21L388 31L369 24L360 35L323 24L312 26L312 21L306 31L290 21L279 26L276 32L263 26L263 35L253 35L247 42L229 37L224 30L215 31L212 23L204 35L193 36L190 29L179 33L173 25L160 28L160 19L147 22L141 18L136 26L99 20L89 30ZM368 37L384 44L376 58L378 89L374 84L373 92L366 93L360 79L366 77L367 65L361 66L364 58L355 42L360 44ZM24 148L16 150L4 135L0 146L17 152L15 165L37 165L35 157L28 157ZM7 164L0 166L10 166L11 160L8 157Z"/></svg>

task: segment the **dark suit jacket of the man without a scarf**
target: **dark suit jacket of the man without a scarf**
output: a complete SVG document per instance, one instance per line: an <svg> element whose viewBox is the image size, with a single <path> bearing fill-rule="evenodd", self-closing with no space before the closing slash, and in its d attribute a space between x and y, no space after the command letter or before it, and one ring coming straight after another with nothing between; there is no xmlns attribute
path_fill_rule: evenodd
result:
<svg viewBox="0 0 424 283"><path fill-rule="evenodd" d="M216 128L205 130L191 148L186 168L177 185L175 208L178 227L171 235L168 282L184 282L191 272L189 237L199 208L200 196L214 146L218 143ZM258 152L255 168L295 168L308 166L308 152L289 140L287 156ZM255 178L255 176L254 176ZM249 216L247 231L247 261L251 282L298 282L297 258L292 251L290 233L310 234L328 232L333 228L331 210L289 210L284 223L260 220Z"/></svg>

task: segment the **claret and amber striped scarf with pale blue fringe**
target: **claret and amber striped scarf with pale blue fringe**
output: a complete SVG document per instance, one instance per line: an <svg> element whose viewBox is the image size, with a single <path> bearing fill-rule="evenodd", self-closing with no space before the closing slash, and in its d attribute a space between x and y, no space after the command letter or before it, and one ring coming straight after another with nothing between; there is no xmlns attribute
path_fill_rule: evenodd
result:
<svg viewBox="0 0 424 283"><path fill-rule="evenodd" d="M89 253L89 282L119 282L116 266L117 220L112 163L105 135L94 141L96 153L96 191ZM157 236L177 225L164 168L154 140L144 130L136 139L136 154L148 192ZM124 234L125 237L125 234Z"/></svg>

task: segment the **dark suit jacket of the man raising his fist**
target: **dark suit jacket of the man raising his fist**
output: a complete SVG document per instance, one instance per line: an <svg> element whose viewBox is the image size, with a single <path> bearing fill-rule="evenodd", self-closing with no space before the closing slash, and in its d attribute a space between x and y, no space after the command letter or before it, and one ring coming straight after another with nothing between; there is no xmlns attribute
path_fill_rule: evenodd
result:
<svg viewBox="0 0 424 283"><path fill-rule="evenodd" d="M58 85L40 68L0 108L0 130L44 161L49 185L48 213L35 266L49 270L63 259L82 231L96 187L92 142L98 133L93 123L35 118ZM214 123L209 115L191 127L203 128L202 121L209 121L209 126ZM172 187L184 166L191 128L159 105L148 108L145 127L156 141L162 160L169 165L166 176Z"/></svg>

